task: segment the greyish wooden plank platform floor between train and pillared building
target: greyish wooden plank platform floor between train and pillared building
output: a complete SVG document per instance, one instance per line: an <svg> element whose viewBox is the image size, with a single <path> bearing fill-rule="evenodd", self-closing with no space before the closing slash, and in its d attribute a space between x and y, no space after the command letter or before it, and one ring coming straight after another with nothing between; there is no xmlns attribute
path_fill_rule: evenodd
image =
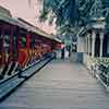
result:
<svg viewBox="0 0 109 109"><path fill-rule="evenodd" d="M109 109L109 95L82 64L60 60L25 82L0 109Z"/></svg>

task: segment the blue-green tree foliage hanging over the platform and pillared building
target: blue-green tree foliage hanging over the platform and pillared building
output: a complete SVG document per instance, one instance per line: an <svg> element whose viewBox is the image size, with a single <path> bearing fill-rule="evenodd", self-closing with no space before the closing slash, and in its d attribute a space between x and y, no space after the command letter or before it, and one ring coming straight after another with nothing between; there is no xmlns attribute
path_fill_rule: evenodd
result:
<svg viewBox="0 0 109 109"><path fill-rule="evenodd" d="M92 17L106 17L109 20L109 0L44 0L40 21L50 15L50 24L56 20L57 27L61 33L72 33L90 22ZM109 24L109 23L108 23Z"/></svg>

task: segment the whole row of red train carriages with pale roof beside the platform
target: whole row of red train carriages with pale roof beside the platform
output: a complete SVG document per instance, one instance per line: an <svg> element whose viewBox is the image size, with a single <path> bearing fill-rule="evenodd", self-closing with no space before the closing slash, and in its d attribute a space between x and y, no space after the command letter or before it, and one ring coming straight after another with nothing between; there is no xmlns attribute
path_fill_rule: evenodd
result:
<svg viewBox="0 0 109 109"><path fill-rule="evenodd" d="M23 20L0 16L0 78L51 52L58 43Z"/></svg>

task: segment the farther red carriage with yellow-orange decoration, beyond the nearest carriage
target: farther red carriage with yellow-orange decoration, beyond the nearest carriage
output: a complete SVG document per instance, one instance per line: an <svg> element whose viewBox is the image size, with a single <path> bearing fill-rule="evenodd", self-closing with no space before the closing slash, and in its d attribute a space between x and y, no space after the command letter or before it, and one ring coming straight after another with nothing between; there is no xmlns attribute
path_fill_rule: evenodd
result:
<svg viewBox="0 0 109 109"><path fill-rule="evenodd" d="M21 53L21 60L22 62L24 62L24 64L29 61L36 60L41 58L43 56L45 56L47 52L51 52L52 49L55 49L56 45L59 43L55 39L51 38L50 35L46 34L45 32L40 31L39 28L33 26L32 24L29 24L28 22L24 21L23 19L17 19L20 23L22 23L23 25L25 25L25 27L28 29L28 37L26 37L25 40L26 41L26 48L28 48L29 50L24 50L22 49L22 52L25 52L25 57L28 57L28 60L26 60L26 62L24 62L24 58ZM59 43L60 44L60 43ZM27 55L28 53L28 55ZM19 63L20 60L19 60ZM23 64L22 64L23 65Z"/></svg>

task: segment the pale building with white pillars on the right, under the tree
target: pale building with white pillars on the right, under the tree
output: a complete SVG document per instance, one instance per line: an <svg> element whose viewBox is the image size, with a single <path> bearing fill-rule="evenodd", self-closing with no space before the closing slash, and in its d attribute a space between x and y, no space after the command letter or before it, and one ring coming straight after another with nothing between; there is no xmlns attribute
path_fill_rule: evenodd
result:
<svg viewBox="0 0 109 109"><path fill-rule="evenodd" d="M77 34L77 52L83 63L92 69L98 61L109 63L109 37L105 34L105 17L93 19Z"/></svg>

